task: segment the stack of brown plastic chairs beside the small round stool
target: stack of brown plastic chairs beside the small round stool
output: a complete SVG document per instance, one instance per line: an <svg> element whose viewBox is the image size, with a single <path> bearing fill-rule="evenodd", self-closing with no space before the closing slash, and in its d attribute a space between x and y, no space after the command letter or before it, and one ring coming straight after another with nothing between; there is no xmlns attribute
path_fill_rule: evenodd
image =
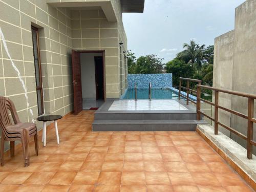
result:
<svg viewBox="0 0 256 192"><path fill-rule="evenodd" d="M10 119L12 115L13 123ZM34 136L35 152L38 155L37 129L35 123L20 122L13 102L0 96L0 127L2 129L1 139L1 166L4 166L4 143L10 141L11 157L14 156L14 141L21 141L25 167L29 166L29 137Z"/></svg>

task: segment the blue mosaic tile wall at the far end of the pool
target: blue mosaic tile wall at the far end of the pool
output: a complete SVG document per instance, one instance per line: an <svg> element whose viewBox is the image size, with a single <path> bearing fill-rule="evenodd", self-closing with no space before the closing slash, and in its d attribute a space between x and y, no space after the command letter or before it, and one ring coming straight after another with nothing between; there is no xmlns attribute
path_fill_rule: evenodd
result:
<svg viewBox="0 0 256 192"><path fill-rule="evenodd" d="M152 88L172 88L173 74L128 74L127 75L128 88L134 88L137 82L137 88L148 88L151 82Z"/></svg>

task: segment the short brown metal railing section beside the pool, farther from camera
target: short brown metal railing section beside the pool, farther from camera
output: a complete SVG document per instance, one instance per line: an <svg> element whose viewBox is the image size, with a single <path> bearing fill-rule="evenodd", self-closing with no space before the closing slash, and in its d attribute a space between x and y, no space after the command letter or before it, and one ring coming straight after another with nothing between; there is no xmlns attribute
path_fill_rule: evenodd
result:
<svg viewBox="0 0 256 192"><path fill-rule="evenodd" d="M186 87L181 86L182 81L186 81ZM179 100L180 100L180 97L186 98L187 105L188 105L188 101L197 104L196 101L194 101L194 100L192 100L192 99L189 98L189 92L193 92L193 93L197 94L197 91L195 91L195 90L189 88L189 83L190 83L190 82L198 82L198 84L201 84L202 81L199 80L199 79L189 79L189 78L180 77L180 84L179 84ZM184 96L184 95L181 94L181 89L186 90L186 93L187 93L186 96Z"/></svg>

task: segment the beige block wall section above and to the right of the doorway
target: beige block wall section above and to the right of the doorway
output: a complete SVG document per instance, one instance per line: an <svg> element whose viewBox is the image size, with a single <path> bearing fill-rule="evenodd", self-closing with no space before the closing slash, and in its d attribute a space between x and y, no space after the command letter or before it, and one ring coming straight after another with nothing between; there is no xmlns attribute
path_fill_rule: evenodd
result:
<svg viewBox="0 0 256 192"><path fill-rule="evenodd" d="M126 38L120 35L125 33L118 26L120 26L118 22L109 22L102 10L71 11L73 49L105 50L107 98L119 98L126 87L123 51L127 50L127 45ZM123 45L120 54L119 42L121 41ZM120 83L120 76L123 79L122 83ZM120 87L121 84L123 84L122 87Z"/></svg>

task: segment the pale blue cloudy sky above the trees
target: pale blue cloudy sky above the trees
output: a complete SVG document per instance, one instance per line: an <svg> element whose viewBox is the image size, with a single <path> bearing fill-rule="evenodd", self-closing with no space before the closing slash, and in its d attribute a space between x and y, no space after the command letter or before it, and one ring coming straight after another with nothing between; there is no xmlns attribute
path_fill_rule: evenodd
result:
<svg viewBox="0 0 256 192"><path fill-rule="evenodd" d="M214 45L234 29L235 8L245 0L145 0L144 13L123 13L128 49L136 57L155 54L168 62L184 42Z"/></svg>

